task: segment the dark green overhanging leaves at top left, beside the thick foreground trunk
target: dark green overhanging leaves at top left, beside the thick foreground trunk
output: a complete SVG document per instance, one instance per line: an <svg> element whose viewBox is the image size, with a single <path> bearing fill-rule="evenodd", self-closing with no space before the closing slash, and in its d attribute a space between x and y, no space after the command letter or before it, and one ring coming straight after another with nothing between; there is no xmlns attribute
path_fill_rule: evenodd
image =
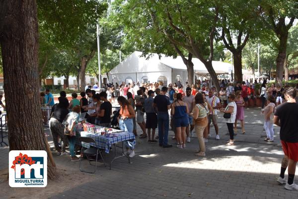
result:
<svg viewBox="0 0 298 199"><path fill-rule="evenodd" d="M37 0L37 4L39 26L57 45L68 47L107 9L107 3L98 0Z"/></svg>

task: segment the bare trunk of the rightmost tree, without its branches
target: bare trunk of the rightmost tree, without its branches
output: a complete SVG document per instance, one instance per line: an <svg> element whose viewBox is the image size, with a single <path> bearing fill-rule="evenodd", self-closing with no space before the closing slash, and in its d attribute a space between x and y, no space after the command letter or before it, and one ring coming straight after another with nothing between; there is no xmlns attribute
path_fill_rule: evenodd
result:
<svg viewBox="0 0 298 199"><path fill-rule="evenodd" d="M287 57L287 41L288 33L280 36L279 38L279 47L278 47L278 56L276 59L276 80L275 84L283 86L283 71L285 66L285 61Z"/></svg>

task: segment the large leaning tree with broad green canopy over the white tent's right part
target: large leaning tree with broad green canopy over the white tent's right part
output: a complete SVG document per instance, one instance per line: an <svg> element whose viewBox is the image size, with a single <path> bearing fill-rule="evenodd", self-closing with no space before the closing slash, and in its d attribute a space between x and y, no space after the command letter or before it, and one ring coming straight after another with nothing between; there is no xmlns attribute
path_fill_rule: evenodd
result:
<svg viewBox="0 0 298 199"><path fill-rule="evenodd" d="M180 0L118 0L116 2L118 2L116 12L125 13L119 18L124 17L127 21L134 22L128 23L131 24L128 31L147 30L153 33L152 37L148 38L149 41L156 39L154 31L161 32L167 39L167 43L176 46L181 52L188 52L185 57L191 55L191 57L198 58L206 66L216 88L220 89L216 72L212 66L214 41L217 36L216 27L219 20L216 3ZM153 29L152 26L157 28ZM147 45L156 45L156 43L149 42ZM192 77L189 78L192 79Z"/></svg>

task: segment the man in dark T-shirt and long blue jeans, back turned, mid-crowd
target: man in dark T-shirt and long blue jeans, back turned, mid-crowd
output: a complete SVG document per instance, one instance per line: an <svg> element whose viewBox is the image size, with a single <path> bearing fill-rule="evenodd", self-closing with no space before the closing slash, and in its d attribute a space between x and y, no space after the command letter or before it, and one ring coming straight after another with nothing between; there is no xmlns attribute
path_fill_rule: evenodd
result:
<svg viewBox="0 0 298 199"><path fill-rule="evenodd" d="M172 147L168 144L168 133L169 133L169 113L170 100L165 96L167 87L162 87L161 92L154 98L153 107L157 107L157 122L158 122L158 138L159 146L163 148Z"/></svg>

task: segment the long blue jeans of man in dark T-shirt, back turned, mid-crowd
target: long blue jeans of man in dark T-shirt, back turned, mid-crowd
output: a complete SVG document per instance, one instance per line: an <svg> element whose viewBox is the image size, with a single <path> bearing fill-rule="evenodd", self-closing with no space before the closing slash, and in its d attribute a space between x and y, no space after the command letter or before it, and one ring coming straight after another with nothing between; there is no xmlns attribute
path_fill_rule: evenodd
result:
<svg viewBox="0 0 298 199"><path fill-rule="evenodd" d="M169 133L168 112L158 112L157 123L158 123L158 142L162 145L167 145L167 137Z"/></svg>

